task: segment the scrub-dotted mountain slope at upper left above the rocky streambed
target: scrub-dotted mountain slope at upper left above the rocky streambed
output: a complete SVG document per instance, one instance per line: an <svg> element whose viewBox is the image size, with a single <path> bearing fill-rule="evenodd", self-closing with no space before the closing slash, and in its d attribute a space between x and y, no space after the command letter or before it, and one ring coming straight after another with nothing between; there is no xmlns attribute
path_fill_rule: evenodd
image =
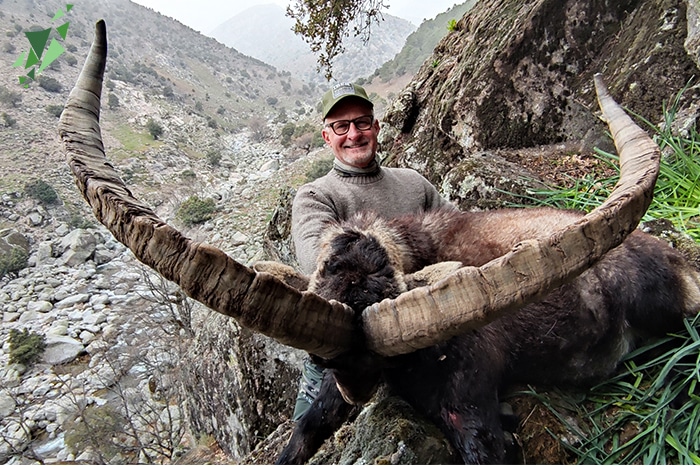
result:
<svg viewBox="0 0 700 466"><path fill-rule="evenodd" d="M25 183L41 177L50 179L60 195L74 196L55 128L101 18L109 42L102 107L105 142L118 155L115 164L133 175L137 192L143 184L156 205L167 205L173 191L201 188L212 174L219 175L220 170L207 165L207 156L234 163L251 127L279 145L281 125L315 112L322 92L315 86L151 9L128 0L86 0L53 20L65 7L58 0L0 2L0 60L7 70L0 73L0 147L7 148L0 151L0 193L20 192ZM69 24L64 39L56 33L63 23ZM37 75L38 82L23 88L18 77L29 69L12 64L30 49L25 32L46 28L66 52ZM163 129L157 140L149 135L151 120ZM166 183L172 177L158 174L165 161L179 171L196 172L197 180Z"/></svg>

